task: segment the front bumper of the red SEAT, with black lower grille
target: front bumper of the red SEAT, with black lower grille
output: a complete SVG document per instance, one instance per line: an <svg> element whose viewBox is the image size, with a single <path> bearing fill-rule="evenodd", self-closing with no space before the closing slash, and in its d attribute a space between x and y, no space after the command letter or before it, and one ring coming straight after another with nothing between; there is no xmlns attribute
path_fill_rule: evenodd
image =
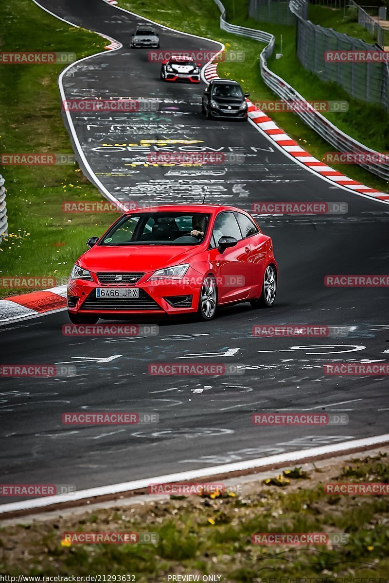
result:
<svg viewBox="0 0 389 583"><path fill-rule="evenodd" d="M90 280L69 280L68 310L72 314L190 314L196 312L202 285L202 276L188 269L183 280L147 281L148 273L136 285L107 285ZM96 280L95 280L96 279ZM137 287L139 298L99 298L97 287L113 289Z"/></svg>

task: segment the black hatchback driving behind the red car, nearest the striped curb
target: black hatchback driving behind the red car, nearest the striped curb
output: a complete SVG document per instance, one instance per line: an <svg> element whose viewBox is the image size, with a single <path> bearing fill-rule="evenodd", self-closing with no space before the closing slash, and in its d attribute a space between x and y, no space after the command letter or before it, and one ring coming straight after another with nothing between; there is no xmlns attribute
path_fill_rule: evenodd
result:
<svg viewBox="0 0 389 583"><path fill-rule="evenodd" d="M246 97L241 86L229 79L213 79L206 87L202 97L202 113L207 120L212 118L239 118L247 120Z"/></svg>

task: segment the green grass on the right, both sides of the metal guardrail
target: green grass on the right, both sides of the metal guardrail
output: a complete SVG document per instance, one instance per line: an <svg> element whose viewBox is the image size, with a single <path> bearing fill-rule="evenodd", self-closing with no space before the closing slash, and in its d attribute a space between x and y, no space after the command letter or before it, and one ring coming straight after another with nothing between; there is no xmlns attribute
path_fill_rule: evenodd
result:
<svg viewBox="0 0 389 583"><path fill-rule="evenodd" d="M226 44L229 50L245 52L245 61L239 64L222 62L218 65L219 76L232 78L241 83L244 90L250 93L250 99L261 101L279 99L263 82L260 74L260 52L264 44L249 38L228 34L220 30L220 12L213 0L191 0L185 3L183 10L180 0L159 0L157 5L145 0L120 0L120 6L132 12L139 13L155 22L165 24L174 29L199 36L219 40ZM240 24L254 29L267 30L276 37L275 51L280 52L281 34L283 36L283 57L269 60L270 68L293 85L299 93L308 100L346 100L349 102L347 113L326 113L326 117L342 131L358 139L367 146L386 152L389 150L388 115L379 106L366 104L351 99L348 94L335 83L324 83L313 73L307 72L296 57L295 36L293 26L282 24L260 23L248 19L247 0L234 2L235 18L233 18L233 0L224 0L228 22ZM162 47L163 48L163 47ZM320 138L297 115L292 113L272 113L272 119L307 151L322 159L325 152L332 152L334 147ZM341 171L363 184L387 192L388 182L374 174L363 170L355 164L332 164L335 170Z"/></svg>

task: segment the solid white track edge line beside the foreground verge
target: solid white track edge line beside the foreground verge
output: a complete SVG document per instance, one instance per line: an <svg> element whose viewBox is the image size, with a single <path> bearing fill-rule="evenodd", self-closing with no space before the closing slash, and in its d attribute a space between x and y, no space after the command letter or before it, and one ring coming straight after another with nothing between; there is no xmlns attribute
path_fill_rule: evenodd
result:
<svg viewBox="0 0 389 583"><path fill-rule="evenodd" d="M48 496L45 498L34 498L33 500L22 500L20 502L11 502L9 504L0 505L0 514L5 512L14 512L17 510L34 510L36 508L43 508L52 504L60 504L64 502L72 502L75 500L87 500L96 496L106 496L107 494L120 494L129 490L137 490L147 488L150 483L171 483L182 482L186 480L193 480L202 477L212 477L229 472L239 472L242 470L261 468L263 466L270 466L279 463L295 462L303 460L304 458L317 458L321 455L336 454L337 452L346 452L350 449L360 447L374 447L379 444L389 442L389 433L365 437L358 440L344 441L332 445L322 445L320 447L313 447L310 449L300 449L300 451L292 451L286 454L269 455L265 458L248 459L246 461L225 463L220 466L211 466L210 468L201 468L198 470L188 470L187 472L178 472L167 474L165 476L154 476L143 478L141 480L134 480L132 482L122 482L120 484L111 484L110 486L100 486L97 488L89 488L87 490L79 490L73 494L58 494L58 496Z"/></svg>

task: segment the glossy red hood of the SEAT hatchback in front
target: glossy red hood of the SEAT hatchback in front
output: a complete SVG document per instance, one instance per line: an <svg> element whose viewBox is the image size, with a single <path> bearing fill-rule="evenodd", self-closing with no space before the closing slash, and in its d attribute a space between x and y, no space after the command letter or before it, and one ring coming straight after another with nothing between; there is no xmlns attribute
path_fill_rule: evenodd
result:
<svg viewBox="0 0 389 583"><path fill-rule="evenodd" d="M94 273L99 271L156 271L164 267L180 265L204 251L201 245L174 247L173 245L128 245L99 247L95 245L83 254L78 265Z"/></svg>

